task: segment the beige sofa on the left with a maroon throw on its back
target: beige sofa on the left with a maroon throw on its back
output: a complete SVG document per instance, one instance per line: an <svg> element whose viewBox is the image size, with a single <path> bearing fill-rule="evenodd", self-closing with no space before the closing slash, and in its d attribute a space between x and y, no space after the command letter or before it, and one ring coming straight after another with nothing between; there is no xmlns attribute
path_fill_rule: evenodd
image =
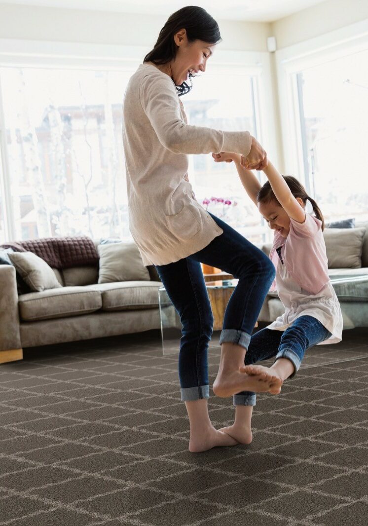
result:
<svg viewBox="0 0 368 526"><path fill-rule="evenodd" d="M18 296L15 268L0 265L0 363L22 359L24 347L160 328L154 267L149 281L101 284L97 266L53 270L61 288Z"/></svg>

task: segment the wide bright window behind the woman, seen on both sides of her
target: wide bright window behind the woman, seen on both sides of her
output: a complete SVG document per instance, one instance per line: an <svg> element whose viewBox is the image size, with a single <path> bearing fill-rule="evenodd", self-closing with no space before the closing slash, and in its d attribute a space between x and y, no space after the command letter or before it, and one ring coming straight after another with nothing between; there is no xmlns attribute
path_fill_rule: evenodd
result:
<svg viewBox="0 0 368 526"><path fill-rule="evenodd" d="M0 127L7 154L6 193L0 188L0 236L7 236L2 207L8 203L15 239L86 234L130 240L121 110L129 77L143 53L136 50L121 66L120 50L112 49L119 59L105 63L101 59L101 67L102 50L93 65L86 66L88 60L79 58L71 59L69 66L67 56L54 63L53 57L38 58L35 49L29 64L22 60L22 66L0 67L4 108ZM193 79L193 90L182 99L190 124L249 130L257 136L260 58L247 60L252 63L248 69L216 65L211 73ZM199 203L208 198L209 211L251 241L262 242L268 228L235 167L215 164L210 155L189 156L189 163Z"/></svg>

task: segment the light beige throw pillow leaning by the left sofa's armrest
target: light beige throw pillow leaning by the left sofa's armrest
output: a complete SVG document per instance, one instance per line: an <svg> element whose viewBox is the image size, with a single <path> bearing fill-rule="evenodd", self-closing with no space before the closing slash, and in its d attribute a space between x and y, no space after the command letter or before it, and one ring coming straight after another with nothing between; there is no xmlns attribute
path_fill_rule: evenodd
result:
<svg viewBox="0 0 368 526"><path fill-rule="evenodd" d="M62 287L53 269L33 252L13 252L8 256L31 290L40 292Z"/></svg>

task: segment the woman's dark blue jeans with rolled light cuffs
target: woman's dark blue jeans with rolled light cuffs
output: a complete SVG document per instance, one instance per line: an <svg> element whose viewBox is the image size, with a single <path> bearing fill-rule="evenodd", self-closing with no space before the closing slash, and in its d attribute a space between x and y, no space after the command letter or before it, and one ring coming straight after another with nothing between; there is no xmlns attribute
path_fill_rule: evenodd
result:
<svg viewBox="0 0 368 526"><path fill-rule="evenodd" d="M209 398L207 352L213 315L200 263L239 279L225 311L220 343L237 343L246 349L275 275L271 260L261 250L211 216L223 230L220 236L187 258L156 266L182 325L179 379L183 401Z"/></svg>

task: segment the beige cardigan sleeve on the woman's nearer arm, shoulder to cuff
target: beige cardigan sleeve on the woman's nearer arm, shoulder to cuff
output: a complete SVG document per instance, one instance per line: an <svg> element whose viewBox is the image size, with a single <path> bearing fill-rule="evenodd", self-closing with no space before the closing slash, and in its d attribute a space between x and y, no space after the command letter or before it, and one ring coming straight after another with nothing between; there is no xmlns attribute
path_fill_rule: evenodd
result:
<svg viewBox="0 0 368 526"><path fill-rule="evenodd" d="M249 131L220 131L186 124L180 115L175 85L159 70L142 79L139 100L160 143L175 154L208 154L224 149L244 156L250 153Z"/></svg>

